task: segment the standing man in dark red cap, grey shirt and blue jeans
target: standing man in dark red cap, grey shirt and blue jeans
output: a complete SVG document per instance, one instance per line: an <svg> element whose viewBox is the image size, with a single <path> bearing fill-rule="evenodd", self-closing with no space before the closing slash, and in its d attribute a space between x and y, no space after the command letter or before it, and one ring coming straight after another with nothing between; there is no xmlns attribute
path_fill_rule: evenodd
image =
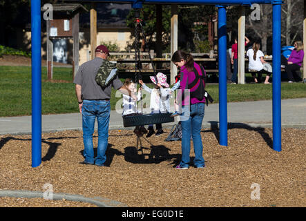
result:
<svg viewBox="0 0 306 221"><path fill-rule="evenodd" d="M120 92L130 95L122 81L117 77L111 84L102 88L95 81L97 70L109 55L108 48L104 45L95 49L95 59L85 62L79 67L73 83L75 83L75 93L79 102L79 112L82 113L82 128L84 142L85 160L81 164L95 164L105 166L106 148L108 146L108 124L111 114L111 89L112 86ZM97 157L93 151L93 133L95 131L95 119L98 125Z"/></svg>

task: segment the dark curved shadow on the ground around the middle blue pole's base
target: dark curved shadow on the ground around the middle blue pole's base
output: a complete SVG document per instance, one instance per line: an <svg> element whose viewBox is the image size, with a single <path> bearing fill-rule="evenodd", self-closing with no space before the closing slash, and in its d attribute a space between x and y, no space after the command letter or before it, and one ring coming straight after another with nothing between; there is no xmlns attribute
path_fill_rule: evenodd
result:
<svg viewBox="0 0 306 221"><path fill-rule="evenodd" d="M212 132L214 133L214 135L216 136L216 139L218 140L218 143L220 143L220 132L219 132L219 127L218 127L218 122L209 122L211 124L211 130L209 131L202 131L202 132ZM247 124L243 124L243 123L229 123L227 124L227 129L231 130L234 128L243 128L243 129L247 129L249 131L255 131L257 133L259 133L262 137L263 140L265 140L265 142L267 143L267 145L269 146L269 148L273 149L273 140L270 137L270 135L268 133L265 132L265 128L262 127L253 127L253 126L249 126Z"/></svg>

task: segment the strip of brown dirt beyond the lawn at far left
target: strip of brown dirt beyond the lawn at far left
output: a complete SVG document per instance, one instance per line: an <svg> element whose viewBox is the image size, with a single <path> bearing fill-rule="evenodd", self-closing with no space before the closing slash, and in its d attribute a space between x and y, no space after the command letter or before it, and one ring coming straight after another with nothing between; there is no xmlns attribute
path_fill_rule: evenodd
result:
<svg viewBox="0 0 306 221"><path fill-rule="evenodd" d="M41 59L41 66L46 66L47 61ZM67 66L67 64L53 62L55 66ZM19 55L3 55L0 57L0 66L31 66L31 58Z"/></svg>

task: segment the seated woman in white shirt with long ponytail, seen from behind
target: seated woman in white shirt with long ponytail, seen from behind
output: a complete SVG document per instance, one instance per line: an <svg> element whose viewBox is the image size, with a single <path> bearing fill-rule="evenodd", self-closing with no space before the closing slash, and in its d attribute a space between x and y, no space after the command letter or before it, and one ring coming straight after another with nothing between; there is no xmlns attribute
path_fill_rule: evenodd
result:
<svg viewBox="0 0 306 221"><path fill-rule="evenodd" d="M272 73L272 67L267 61L263 59L264 55L261 50L259 50L260 44L254 43L253 47L247 50L247 57L249 57L249 70L255 70L258 73L258 79L261 80L262 73L267 73L265 84L269 83L269 78ZM256 73L251 73L252 77L254 77L255 83L258 83L258 79L256 78Z"/></svg>

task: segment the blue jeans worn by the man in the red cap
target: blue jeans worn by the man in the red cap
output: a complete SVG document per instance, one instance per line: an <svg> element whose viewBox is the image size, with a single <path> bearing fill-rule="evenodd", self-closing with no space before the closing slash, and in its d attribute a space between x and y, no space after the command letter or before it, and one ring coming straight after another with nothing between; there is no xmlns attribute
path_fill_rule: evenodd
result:
<svg viewBox="0 0 306 221"><path fill-rule="evenodd" d="M104 100L86 100L82 106L84 162L102 166L106 161L108 146L108 124L111 115L111 103ZM93 152L93 133L95 131L95 118L98 124L97 157Z"/></svg>

